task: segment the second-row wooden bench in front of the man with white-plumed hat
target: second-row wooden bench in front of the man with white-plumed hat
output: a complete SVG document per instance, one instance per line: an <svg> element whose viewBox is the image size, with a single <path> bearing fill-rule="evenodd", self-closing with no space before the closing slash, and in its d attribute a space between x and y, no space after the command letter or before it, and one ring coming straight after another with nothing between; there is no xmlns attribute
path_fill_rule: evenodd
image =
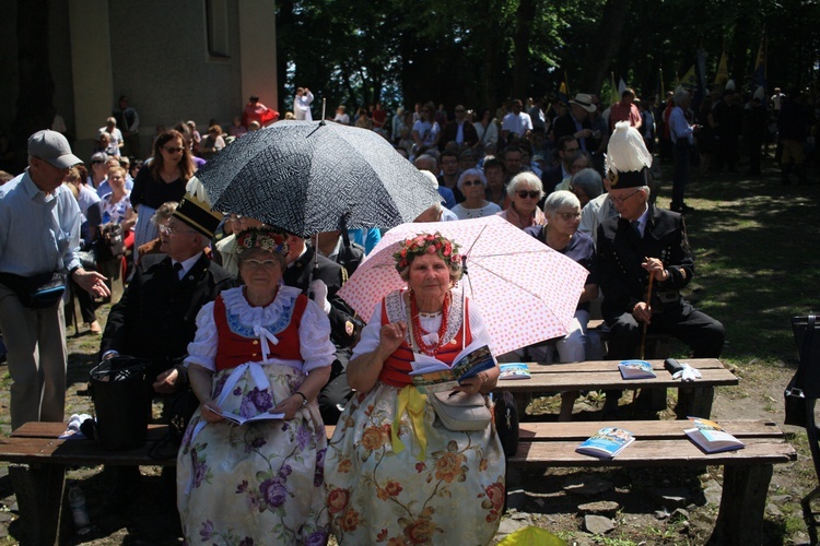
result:
<svg viewBox="0 0 820 546"><path fill-rule="evenodd" d="M679 418L688 415L708 417L712 413L712 402L715 387L735 385L739 379L717 358L690 358L681 361L698 368L703 376L691 382L672 379L672 375L664 368L664 360L648 360L652 364L655 378L631 379L625 381L618 370L617 360L593 360L572 364L539 365L527 363L530 379L501 380L496 389L512 392L514 395L523 393L562 392L562 391L600 391L624 389L678 389Z"/></svg>

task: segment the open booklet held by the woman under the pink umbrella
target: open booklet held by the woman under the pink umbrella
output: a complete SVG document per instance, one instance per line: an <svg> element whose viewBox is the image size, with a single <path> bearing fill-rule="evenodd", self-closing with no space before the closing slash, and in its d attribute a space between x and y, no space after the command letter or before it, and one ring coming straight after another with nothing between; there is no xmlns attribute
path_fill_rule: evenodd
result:
<svg viewBox="0 0 820 546"><path fill-rule="evenodd" d="M492 369L495 358L490 353L490 347L471 343L464 348L455 358L453 367L445 363L421 353L415 353L412 363L413 384L422 394L452 391L465 379L477 376L479 372Z"/></svg>

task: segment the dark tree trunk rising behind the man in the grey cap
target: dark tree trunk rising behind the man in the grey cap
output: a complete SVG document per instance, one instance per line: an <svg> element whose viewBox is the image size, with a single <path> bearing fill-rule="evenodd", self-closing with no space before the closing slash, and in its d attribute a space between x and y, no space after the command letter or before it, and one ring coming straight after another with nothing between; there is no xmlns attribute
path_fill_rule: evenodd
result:
<svg viewBox="0 0 820 546"><path fill-rule="evenodd" d="M54 121L55 84L48 60L48 0L17 0L20 95L12 123L17 150L25 150L28 136L50 128Z"/></svg>

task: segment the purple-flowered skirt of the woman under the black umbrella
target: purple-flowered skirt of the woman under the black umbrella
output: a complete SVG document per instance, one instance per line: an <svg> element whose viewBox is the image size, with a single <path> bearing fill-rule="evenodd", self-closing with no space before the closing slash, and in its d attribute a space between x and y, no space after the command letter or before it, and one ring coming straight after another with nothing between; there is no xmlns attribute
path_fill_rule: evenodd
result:
<svg viewBox="0 0 820 546"><path fill-rule="evenodd" d="M304 379L286 366L243 365L214 375L213 399L220 400L227 383L220 407L249 417L276 407ZM186 543L326 544L327 437L317 403L291 420L245 425L206 424L199 412L177 456L177 507Z"/></svg>

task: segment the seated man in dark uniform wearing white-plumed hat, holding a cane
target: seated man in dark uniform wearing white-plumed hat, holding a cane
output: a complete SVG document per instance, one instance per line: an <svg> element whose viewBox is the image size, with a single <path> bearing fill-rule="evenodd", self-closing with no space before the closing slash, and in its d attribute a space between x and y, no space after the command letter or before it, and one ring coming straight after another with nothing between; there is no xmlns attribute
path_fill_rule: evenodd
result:
<svg viewBox="0 0 820 546"><path fill-rule="evenodd" d="M631 145L623 146L624 140ZM601 312L611 332L609 358L622 360L639 356L644 323L648 333L681 340L695 358L717 358L726 335L723 324L694 309L680 295L694 273L683 217L648 203L646 166L617 170L617 165L630 165L630 162L623 158L619 162L613 144L616 150L646 150L641 134L625 124L617 127L609 144L609 195L619 216L598 226L597 242L604 293ZM640 150L639 154L642 154ZM634 166L633 161L631 167ZM649 275L654 283L647 301ZM617 406L618 399L611 397L607 396L605 412Z"/></svg>

